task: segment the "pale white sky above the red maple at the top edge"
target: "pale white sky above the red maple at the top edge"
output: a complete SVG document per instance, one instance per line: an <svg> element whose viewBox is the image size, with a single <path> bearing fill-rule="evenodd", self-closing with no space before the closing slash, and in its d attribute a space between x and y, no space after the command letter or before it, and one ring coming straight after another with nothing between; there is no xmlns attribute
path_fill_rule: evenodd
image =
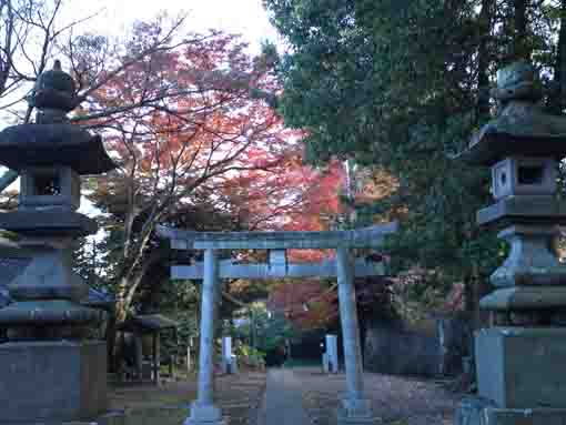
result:
<svg viewBox="0 0 566 425"><path fill-rule="evenodd" d="M239 33L250 42L253 52L261 41L277 41L262 0L68 0L65 20L80 19L101 11L87 26L103 34L123 32L134 20L150 19L160 11L171 16L189 13L186 29L209 29Z"/></svg>

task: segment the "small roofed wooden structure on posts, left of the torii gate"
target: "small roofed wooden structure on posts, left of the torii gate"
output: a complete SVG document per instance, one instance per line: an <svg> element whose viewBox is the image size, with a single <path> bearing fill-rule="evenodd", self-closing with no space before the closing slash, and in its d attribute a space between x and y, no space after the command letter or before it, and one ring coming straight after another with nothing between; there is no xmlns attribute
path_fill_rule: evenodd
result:
<svg viewBox="0 0 566 425"><path fill-rule="evenodd" d="M135 315L125 321L121 326L121 332L129 332L133 334L134 347L135 347L135 375L138 380L143 381L144 368L143 368L143 336L151 335L152 338L152 353L151 353L151 380L155 385L160 384L160 357L161 357L161 332L173 330L176 340L179 323L165 317L162 314L143 314ZM170 376L174 375L174 356L169 362Z"/></svg>

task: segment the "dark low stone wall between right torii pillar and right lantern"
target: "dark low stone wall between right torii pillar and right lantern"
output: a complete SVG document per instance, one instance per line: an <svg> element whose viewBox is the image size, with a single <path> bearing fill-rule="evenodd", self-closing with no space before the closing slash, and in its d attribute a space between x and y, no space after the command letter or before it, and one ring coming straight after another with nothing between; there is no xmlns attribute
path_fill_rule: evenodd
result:
<svg viewBox="0 0 566 425"><path fill-rule="evenodd" d="M373 323L365 337L365 368L394 375L458 374L467 353L466 322L438 317L433 325L423 331L400 322Z"/></svg>

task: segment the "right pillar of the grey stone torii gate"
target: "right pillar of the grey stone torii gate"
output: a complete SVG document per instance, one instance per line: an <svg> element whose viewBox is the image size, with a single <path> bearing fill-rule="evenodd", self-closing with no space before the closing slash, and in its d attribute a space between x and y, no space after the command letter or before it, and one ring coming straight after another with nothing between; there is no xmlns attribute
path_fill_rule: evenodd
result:
<svg viewBox="0 0 566 425"><path fill-rule="evenodd" d="M364 398L362 347L357 324L353 261L347 249L336 249L336 265L347 387L346 398L342 399L338 408L338 425L373 424L374 418L370 401Z"/></svg>

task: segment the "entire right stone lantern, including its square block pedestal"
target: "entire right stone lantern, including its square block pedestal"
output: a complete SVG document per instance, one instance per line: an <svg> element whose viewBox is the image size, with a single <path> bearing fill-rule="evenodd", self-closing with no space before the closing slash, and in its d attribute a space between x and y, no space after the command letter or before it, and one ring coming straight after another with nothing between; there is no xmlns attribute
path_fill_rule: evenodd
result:
<svg viewBox="0 0 566 425"><path fill-rule="evenodd" d="M566 119L544 113L535 69L518 62L497 73L498 117L463 158L492 169L496 203L477 213L499 229L511 252L481 300L492 327L475 335L478 398L463 402L459 425L566 423L566 266L552 250L566 203L556 196L566 156Z"/></svg>

